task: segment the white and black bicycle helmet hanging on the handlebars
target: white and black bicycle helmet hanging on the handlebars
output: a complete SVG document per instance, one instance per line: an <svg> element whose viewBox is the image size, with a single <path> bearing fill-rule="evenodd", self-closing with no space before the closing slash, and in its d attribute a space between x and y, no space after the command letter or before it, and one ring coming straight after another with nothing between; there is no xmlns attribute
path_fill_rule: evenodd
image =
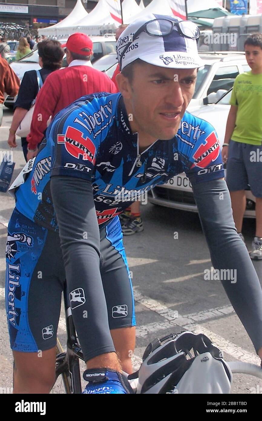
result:
<svg viewBox="0 0 262 421"><path fill-rule="evenodd" d="M186 381L181 381L186 372ZM137 393L229 393L232 374L222 352L207 336L182 332L154 339L143 354L140 369L128 376L134 378L138 378ZM201 382L207 385L204 392L199 387L194 391L192 384Z"/></svg>

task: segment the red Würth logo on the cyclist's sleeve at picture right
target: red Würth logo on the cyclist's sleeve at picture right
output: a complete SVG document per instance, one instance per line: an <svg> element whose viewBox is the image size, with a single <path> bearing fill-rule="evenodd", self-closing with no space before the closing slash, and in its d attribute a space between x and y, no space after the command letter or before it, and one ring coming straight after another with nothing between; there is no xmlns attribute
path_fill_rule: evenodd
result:
<svg viewBox="0 0 262 421"><path fill-rule="evenodd" d="M198 149L196 150L193 158L195 162L190 168L206 168L211 162L214 162L220 152L219 141L214 132L210 133L209 136L204 140Z"/></svg>

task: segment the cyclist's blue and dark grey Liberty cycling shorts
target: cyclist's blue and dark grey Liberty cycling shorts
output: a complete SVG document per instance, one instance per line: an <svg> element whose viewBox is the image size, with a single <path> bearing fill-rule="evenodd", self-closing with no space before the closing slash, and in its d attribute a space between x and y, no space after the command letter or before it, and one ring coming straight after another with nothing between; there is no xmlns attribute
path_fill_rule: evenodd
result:
<svg viewBox="0 0 262 421"><path fill-rule="evenodd" d="M135 325L132 282L122 237L118 217L100 230L100 273L110 329ZM95 279L93 282L95 288ZM35 224L15 208L8 224L5 290L14 351L37 352L56 346L65 284L58 233ZM85 290L85 285L77 279L75 288L69 293L72 309L82 304L81 290ZM85 304L82 309L85 310ZM80 345L85 343L86 323L93 323L95 317L89 312L88 318L82 318L81 331L77 332ZM97 332L93 334L97 344ZM88 341L92 343L92 337Z"/></svg>

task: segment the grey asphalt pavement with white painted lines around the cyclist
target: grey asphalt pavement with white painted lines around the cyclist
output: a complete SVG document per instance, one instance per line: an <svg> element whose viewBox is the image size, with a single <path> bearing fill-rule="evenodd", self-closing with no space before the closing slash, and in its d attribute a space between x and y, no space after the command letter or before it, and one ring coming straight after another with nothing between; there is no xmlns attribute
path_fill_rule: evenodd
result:
<svg viewBox="0 0 262 421"><path fill-rule="evenodd" d="M9 150L7 139L11 120L12 112L4 108L0 151ZM17 143L13 179L25 164L19 138ZM13 198L7 193L0 193L0 388L12 387L13 359L5 315L4 286L7 224L13 207ZM143 351L151 340L185 329L209 336L222 349L227 361L259 364L253 345L220 281L204 279L204 270L211 269L212 264L198 215L149 203L141 210L144 231L124 237L136 304L134 368L139 367ZM243 234L249 249L254 231L255 221L244 220ZM262 261L254 262L254 266L261 282ZM65 346L63 306L58 337ZM59 392L58 387L55 392ZM251 376L235 375L232 392L262 393L262 381Z"/></svg>

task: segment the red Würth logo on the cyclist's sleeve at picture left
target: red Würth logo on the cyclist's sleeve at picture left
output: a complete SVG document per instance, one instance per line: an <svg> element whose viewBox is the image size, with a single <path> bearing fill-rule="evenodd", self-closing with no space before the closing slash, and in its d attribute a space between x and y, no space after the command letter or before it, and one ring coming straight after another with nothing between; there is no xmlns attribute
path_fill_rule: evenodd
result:
<svg viewBox="0 0 262 421"><path fill-rule="evenodd" d="M73 157L79 159L82 155L84 160L95 163L95 145L91 139L84 138L83 133L74 127L68 126L65 135L58 134L57 143L64 143L66 151Z"/></svg>

